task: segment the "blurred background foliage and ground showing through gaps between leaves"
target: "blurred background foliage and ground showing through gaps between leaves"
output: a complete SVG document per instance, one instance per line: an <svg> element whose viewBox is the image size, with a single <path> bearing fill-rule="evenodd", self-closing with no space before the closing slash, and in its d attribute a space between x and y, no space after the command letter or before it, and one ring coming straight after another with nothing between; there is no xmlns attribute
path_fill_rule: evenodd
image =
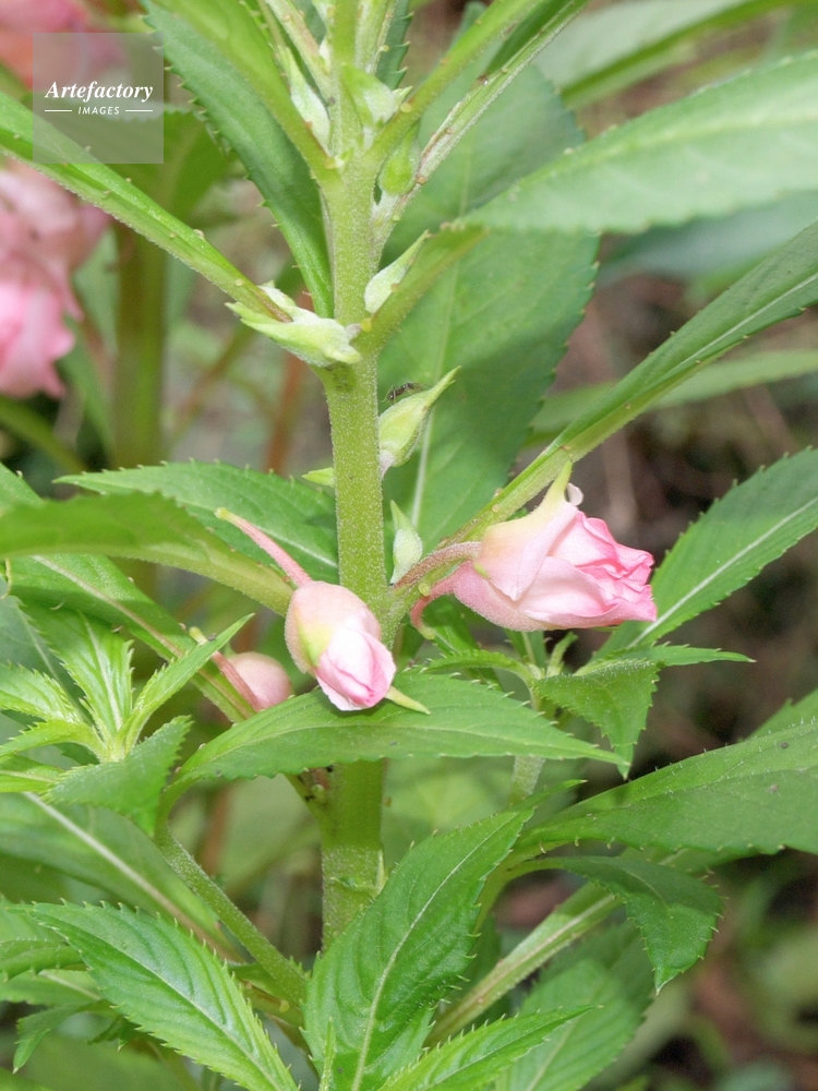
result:
<svg viewBox="0 0 818 1091"><path fill-rule="evenodd" d="M683 9L699 0L672 2ZM598 0L590 10L610 5ZM105 4L98 7L101 12ZM131 7L111 0L106 14L125 25L133 19ZM768 5L758 7L760 13L749 22L682 36L646 57L638 70L614 72L604 86L567 89L579 123L588 133L598 133L743 68L818 48L818 2L771 12L762 10ZM435 0L417 11L410 82L411 73L422 71L441 51L461 13L458 0ZM540 64L558 82L557 46ZM184 99L178 87L171 87L172 96ZM217 180L196 200L190 221L253 280L275 277L297 291L286 247L257 191L226 149L213 145L212 152ZM570 398L582 396L578 391L627 372L715 293L817 216L818 192L718 223L605 238L600 290L560 364L531 453L538 449L537 436L553 434L549 428L560 413L572 412L577 403ZM217 289L172 259L164 261L166 457L220 459L293 476L327 465L328 423L317 380L272 341L238 326ZM67 487L51 484L61 472L80 465L111 465L103 401L118 350L117 300L128 283L119 273L127 262L127 248L120 240L118 249L109 232L76 277L86 317L77 346L60 364L68 397L58 403L38 395L11 406L4 399L0 406L0 455L43 494L68 494ZM734 480L818 442L818 313L807 311L755 338L742 349L743 355L749 352L770 353L769 360L773 353L787 353L790 362L781 373L792 374L794 368L802 373L706 401L669 405L609 440L577 467L575 480L586 494L586 511L606 519L617 539L661 559ZM797 367L795 352L801 355ZM137 580L147 578L136 566L132 572ZM173 572L159 579L165 600L185 624L215 631L248 612L246 602L233 594L205 588L193 576ZM817 618L818 540L813 536L679 633L681 643L727 648L754 662L664 672L634 774L737 741L787 696L798 699L817 687ZM261 618L252 628L244 634L246 647L256 645L276 655L282 646L280 622ZM602 638L584 633L568 656L582 662ZM147 654L141 655L147 670ZM180 710L187 710L192 698L185 694L178 699ZM194 744L219 729L215 719L208 722L217 715L213 708L202 704L196 711ZM504 763L488 760L394 763L387 789L390 858L432 830L472 822L501 806L508 771ZM601 782L615 777L600 767L597 775ZM178 832L282 950L299 958L315 951L317 832L284 778L201 792L179 814ZM727 913L707 958L662 992L636 1040L594 1082L600 1091L818 1091L818 862L785 852L726 866L718 883L727 896ZM496 943L510 947L572 889L573 880L552 873L519 880L498 908ZM77 879L58 878L45 866L3 855L0 844L0 892L36 900L52 898L56 890L74 899L96 897ZM2 1012L0 1062L7 1066L14 1021L23 1010L9 1003ZM77 1035L86 1034L87 1027L80 1022L89 1018L76 1017ZM71 1034L69 1020L61 1035L51 1035L34 1054L24 1075L48 1084L49 1072L59 1070L60 1086L69 1087L74 1079L77 1091L135 1089L136 1069L118 1067L112 1044L86 1046ZM151 1071L155 1080L154 1066ZM167 1079L168 1088L176 1086L170 1076Z"/></svg>

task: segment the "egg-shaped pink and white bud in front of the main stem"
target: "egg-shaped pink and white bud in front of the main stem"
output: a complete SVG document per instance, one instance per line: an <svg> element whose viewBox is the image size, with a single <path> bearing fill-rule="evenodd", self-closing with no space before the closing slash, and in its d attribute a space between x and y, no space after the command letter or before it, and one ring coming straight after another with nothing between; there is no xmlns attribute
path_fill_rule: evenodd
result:
<svg viewBox="0 0 818 1091"><path fill-rule="evenodd" d="M285 637L298 667L336 708L372 708L389 692L395 660L375 615L346 587L310 580L296 588Z"/></svg>

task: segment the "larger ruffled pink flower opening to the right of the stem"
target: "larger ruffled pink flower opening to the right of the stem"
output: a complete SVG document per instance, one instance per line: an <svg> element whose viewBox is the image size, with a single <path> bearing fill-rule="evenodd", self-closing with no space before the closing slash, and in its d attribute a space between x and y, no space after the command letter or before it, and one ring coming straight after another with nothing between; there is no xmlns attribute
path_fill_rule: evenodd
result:
<svg viewBox="0 0 818 1091"><path fill-rule="evenodd" d="M652 621L648 586L653 558L621 546L602 519L578 509L579 489L554 482L530 515L491 527L473 561L442 580L413 611L455 595L503 628L592 628L623 621Z"/></svg>

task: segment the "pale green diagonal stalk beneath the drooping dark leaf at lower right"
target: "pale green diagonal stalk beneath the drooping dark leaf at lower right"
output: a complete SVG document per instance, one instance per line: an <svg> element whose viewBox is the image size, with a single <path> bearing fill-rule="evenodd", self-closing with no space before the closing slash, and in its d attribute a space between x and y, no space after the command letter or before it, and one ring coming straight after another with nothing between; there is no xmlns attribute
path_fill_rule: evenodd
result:
<svg viewBox="0 0 818 1091"><path fill-rule="evenodd" d="M510 992L558 951L603 921L616 899L588 884L545 918L510 955L494 967L461 1000L444 1011L426 1040L428 1045L456 1034Z"/></svg>

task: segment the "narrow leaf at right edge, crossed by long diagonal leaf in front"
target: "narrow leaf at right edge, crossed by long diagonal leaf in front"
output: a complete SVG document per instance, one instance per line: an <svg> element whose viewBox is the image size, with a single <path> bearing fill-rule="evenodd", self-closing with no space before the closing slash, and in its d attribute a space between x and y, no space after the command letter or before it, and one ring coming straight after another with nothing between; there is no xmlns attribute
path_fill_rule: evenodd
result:
<svg viewBox="0 0 818 1091"><path fill-rule="evenodd" d="M810 351L758 352L727 363L711 363L659 398L652 409L707 401L709 398L732 394L733 391L746 389L748 386L778 383L784 379L798 379L816 371L818 371L818 352ZM550 394L534 417L528 442L533 445L553 439L580 412L585 412L612 388L613 383L596 383L593 386L579 386L561 394Z"/></svg>

